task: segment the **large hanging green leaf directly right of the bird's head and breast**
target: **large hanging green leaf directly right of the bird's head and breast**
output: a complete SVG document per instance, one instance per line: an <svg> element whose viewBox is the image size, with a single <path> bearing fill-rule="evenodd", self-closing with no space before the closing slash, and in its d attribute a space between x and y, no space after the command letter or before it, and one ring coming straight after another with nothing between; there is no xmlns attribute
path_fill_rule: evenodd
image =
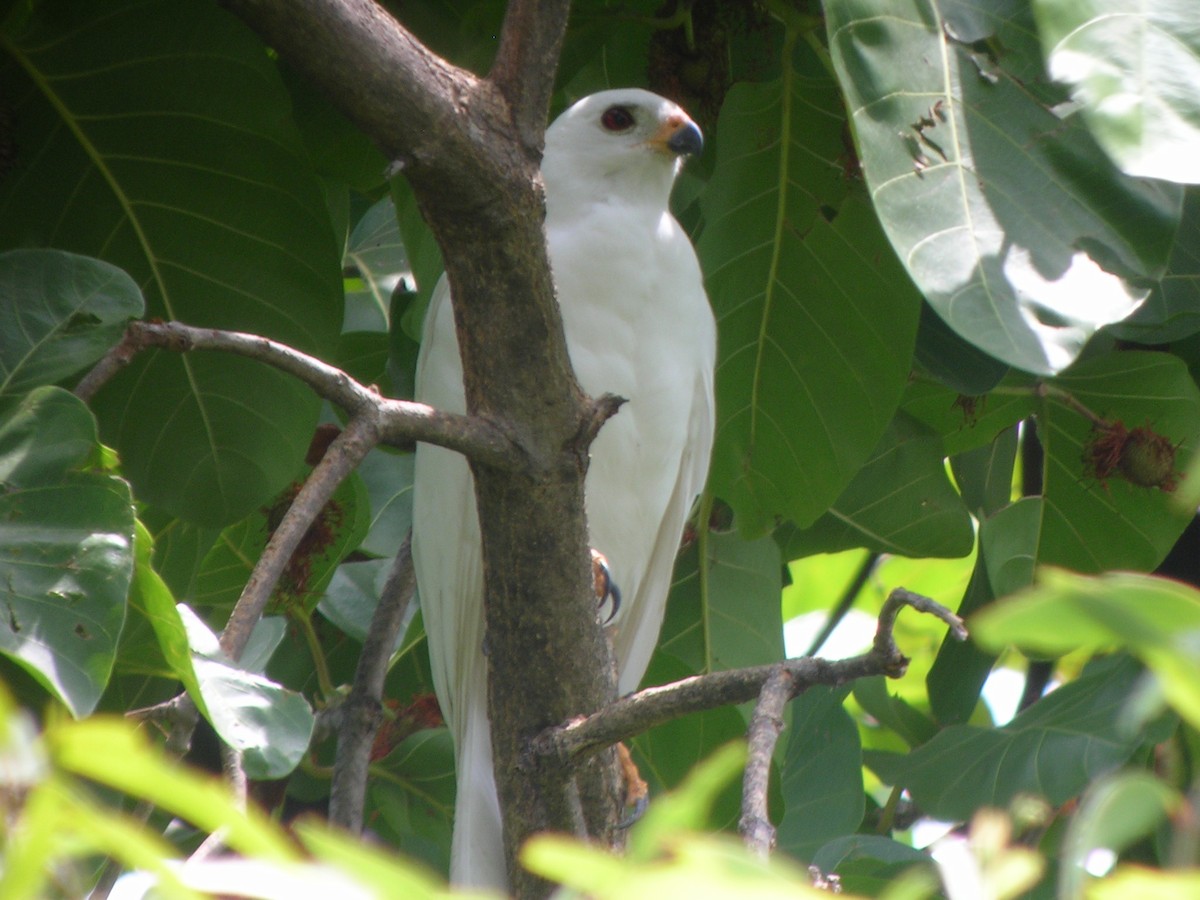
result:
<svg viewBox="0 0 1200 900"><path fill-rule="evenodd" d="M761 533L821 515L899 401L920 310L848 170L841 97L811 54L734 85L697 244L720 330L712 486Z"/></svg>

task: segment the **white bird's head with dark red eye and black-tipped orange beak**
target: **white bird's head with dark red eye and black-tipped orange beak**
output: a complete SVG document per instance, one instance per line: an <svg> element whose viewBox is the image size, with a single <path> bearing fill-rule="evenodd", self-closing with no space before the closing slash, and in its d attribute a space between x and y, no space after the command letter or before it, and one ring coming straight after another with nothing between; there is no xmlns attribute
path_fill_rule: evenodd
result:
<svg viewBox="0 0 1200 900"><path fill-rule="evenodd" d="M683 158L703 144L696 124L670 100L637 88L593 94L546 130L547 202L582 192L666 209Z"/></svg>

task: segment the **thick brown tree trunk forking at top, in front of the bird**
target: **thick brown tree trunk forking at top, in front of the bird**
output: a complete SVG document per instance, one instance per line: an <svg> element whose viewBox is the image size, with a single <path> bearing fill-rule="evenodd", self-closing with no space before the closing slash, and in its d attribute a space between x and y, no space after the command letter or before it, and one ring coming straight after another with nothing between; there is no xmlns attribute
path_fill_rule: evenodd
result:
<svg viewBox="0 0 1200 900"><path fill-rule="evenodd" d="M226 0L396 161L442 248L467 408L506 424L530 466L472 461L482 530L490 709L512 863L535 830L611 839L614 766L572 782L524 766L529 738L613 697L583 512L593 407L571 372L546 258L539 163L565 0L514 0L492 73L432 54L371 0ZM596 767L593 766L595 770Z"/></svg>

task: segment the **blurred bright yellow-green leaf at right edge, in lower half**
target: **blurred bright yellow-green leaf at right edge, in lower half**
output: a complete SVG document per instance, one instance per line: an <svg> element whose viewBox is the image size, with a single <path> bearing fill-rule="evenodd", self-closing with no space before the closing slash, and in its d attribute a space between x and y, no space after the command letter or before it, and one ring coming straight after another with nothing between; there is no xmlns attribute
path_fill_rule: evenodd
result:
<svg viewBox="0 0 1200 900"><path fill-rule="evenodd" d="M1170 704L1200 727L1200 592L1182 582L1044 569L1037 586L974 616L971 632L991 649L1015 643L1061 655L1126 648L1154 672Z"/></svg>

